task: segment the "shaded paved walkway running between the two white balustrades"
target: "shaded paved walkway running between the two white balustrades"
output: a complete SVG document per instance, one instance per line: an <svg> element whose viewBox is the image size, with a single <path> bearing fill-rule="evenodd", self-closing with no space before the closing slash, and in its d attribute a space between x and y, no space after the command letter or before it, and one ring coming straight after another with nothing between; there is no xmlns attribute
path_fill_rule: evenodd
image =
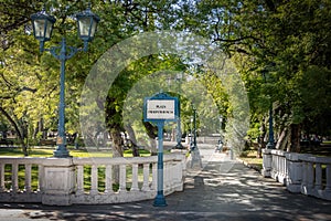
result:
<svg viewBox="0 0 331 221"><path fill-rule="evenodd" d="M0 220L331 220L331 201L289 193L243 164L199 146L203 168L189 168L183 192L152 200L107 206L46 207L1 203Z"/></svg>

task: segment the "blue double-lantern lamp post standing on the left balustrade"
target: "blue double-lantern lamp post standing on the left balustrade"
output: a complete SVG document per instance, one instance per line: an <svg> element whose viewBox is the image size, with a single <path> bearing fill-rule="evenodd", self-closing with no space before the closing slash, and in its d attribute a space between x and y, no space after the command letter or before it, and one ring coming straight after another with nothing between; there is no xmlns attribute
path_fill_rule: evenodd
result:
<svg viewBox="0 0 331 221"><path fill-rule="evenodd" d="M56 150L54 157L65 158L70 157L66 149L66 135L65 135L65 62L73 57L77 52L86 52L88 42L90 42L96 33L97 24L100 19L90 11L90 8L84 12L76 14L78 35L84 42L84 48L78 49L75 46L67 46L65 38L62 38L60 46L52 46L44 49L44 43L51 40L53 27L56 19L46 13L45 9L41 12L31 15L33 34L40 41L40 52L49 51L55 59L61 61L60 70L60 105L58 105L58 129L56 138Z"/></svg>

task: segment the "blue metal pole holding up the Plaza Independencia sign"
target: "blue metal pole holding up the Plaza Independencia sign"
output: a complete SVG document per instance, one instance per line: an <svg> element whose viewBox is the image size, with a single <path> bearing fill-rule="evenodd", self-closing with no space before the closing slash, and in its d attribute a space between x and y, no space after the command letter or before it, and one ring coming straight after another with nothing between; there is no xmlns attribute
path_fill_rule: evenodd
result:
<svg viewBox="0 0 331 221"><path fill-rule="evenodd" d="M158 122L158 194L154 199L154 207L167 207L163 194L163 120Z"/></svg>

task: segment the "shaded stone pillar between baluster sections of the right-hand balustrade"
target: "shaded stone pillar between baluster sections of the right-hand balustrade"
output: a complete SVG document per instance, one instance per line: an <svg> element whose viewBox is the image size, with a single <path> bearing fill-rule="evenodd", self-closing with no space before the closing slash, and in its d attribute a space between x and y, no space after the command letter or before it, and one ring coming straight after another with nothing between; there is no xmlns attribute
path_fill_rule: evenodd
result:
<svg viewBox="0 0 331 221"><path fill-rule="evenodd" d="M287 160L286 183L287 183L287 189L290 192L301 191L302 165L299 159L299 156L300 155L296 152L286 154L286 160Z"/></svg>

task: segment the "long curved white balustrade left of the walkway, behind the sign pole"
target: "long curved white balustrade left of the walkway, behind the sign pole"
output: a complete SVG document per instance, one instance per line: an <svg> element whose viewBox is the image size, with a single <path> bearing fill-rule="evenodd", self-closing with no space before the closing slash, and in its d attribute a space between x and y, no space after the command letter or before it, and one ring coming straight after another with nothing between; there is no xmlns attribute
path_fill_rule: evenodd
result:
<svg viewBox="0 0 331 221"><path fill-rule="evenodd" d="M93 159L0 157L0 201L66 206L153 199L157 194L157 156ZM182 191L184 155L164 155L163 161L164 194ZM115 168L119 168L118 186L113 177ZM88 179L84 179L84 170L86 176L88 169ZM24 176L23 182L21 176Z"/></svg>

